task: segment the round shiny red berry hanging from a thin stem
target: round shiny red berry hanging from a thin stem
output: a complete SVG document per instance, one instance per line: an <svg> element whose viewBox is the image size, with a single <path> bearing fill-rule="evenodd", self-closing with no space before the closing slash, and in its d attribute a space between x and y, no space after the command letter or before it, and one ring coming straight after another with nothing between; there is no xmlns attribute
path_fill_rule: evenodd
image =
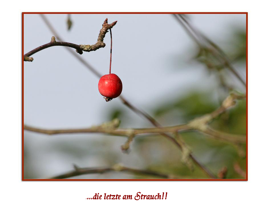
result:
<svg viewBox="0 0 271 219"><path fill-rule="evenodd" d="M116 74L106 74L100 78L98 89L102 96L111 100L120 96L122 92L122 81ZM106 99L106 101L109 101L108 99Z"/></svg>

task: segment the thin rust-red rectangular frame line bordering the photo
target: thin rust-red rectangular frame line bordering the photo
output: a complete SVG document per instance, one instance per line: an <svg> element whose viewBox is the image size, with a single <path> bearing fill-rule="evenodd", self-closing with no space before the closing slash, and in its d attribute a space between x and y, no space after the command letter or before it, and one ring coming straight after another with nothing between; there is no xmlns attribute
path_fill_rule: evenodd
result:
<svg viewBox="0 0 271 219"><path fill-rule="evenodd" d="M24 179L24 14L245 14L246 15L246 179ZM22 181L248 181L248 12L22 12Z"/></svg>

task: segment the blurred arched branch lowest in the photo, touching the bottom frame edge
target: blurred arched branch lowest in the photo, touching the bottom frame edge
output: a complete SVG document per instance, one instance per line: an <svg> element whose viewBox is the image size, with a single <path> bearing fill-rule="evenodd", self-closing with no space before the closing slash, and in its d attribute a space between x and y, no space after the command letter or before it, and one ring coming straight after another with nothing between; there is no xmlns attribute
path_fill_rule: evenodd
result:
<svg viewBox="0 0 271 219"><path fill-rule="evenodd" d="M182 179L183 178L181 176L168 175L168 174L151 171L151 170L134 169L134 168L124 167L120 164L116 164L113 167L109 167L109 168L78 168L77 166L74 166L74 171L70 171L68 173L52 177L50 179L66 179L66 178L75 177L79 175L93 174L93 173L102 174L102 173L107 173L110 171L128 172L128 173L132 173L136 175L150 175L150 176L159 177L162 179L164 178Z"/></svg>

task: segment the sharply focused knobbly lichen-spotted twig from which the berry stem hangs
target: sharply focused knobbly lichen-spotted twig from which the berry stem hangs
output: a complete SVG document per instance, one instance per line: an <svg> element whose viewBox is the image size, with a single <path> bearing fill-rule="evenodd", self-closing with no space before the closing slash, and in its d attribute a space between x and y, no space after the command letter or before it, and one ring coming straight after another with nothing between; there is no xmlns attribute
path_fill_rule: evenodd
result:
<svg viewBox="0 0 271 219"><path fill-rule="evenodd" d="M112 27L114 27L114 25L116 25L116 23L117 23L117 21L113 22L112 24L108 24L107 18L106 18L103 25L102 25L102 29L100 30L98 40L93 45L77 45L77 44L70 43L70 42L56 42L55 37L52 36L51 42L46 43L42 46L39 46L39 47L31 50L30 52L27 52L26 54L24 54L24 61L32 62L33 58L29 57L29 56L31 56L31 55L35 54L36 52L39 52L43 49L49 48L51 46L68 46L68 47L76 49L76 52L78 52L79 54L83 54L83 51L90 52L90 51L95 51L99 48L103 48L103 47L105 47L104 37L105 37L106 33L108 32L108 29L111 29Z"/></svg>

